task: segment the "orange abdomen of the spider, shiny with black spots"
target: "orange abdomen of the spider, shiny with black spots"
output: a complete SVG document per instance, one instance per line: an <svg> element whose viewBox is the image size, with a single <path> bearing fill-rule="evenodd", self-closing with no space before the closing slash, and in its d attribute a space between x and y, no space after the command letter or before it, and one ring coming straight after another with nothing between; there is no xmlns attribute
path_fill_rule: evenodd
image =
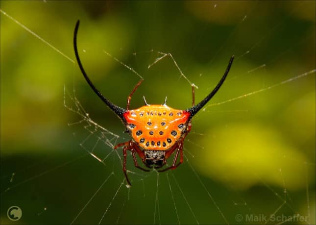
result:
<svg viewBox="0 0 316 225"><path fill-rule="evenodd" d="M145 105L124 113L126 128L144 150L169 150L185 132L190 113L167 105Z"/></svg>

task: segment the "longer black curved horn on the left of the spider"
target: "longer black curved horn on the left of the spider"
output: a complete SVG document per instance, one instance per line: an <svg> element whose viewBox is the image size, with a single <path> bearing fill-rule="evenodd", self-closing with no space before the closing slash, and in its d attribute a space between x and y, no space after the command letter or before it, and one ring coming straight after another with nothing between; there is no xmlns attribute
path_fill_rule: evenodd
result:
<svg viewBox="0 0 316 225"><path fill-rule="evenodd" d="M74 28L74 33L73 33L73 48L74 48L74 53L76 55L76 59L78 62L78 65L80 67L81 73L83 74L84 78L87 80L88 84L90 85L90 87L92 88L92 90L97 94L97 96L104 101L104 103L109 106L110 109L112 109L113 112L115 112L121 119L122 121L125 121L124 117L123 117L123 113L126 112L125 109L123 109L120 106L117 106L115 104L113 104L111 101L107 100L102 94L101 92L99 92L97 90L97 88L95 87L95 85L93 85L93 83L91 82L91 80L89 79L88 75L86 74L86 72L83 69L83 66L81 64L80 58L79 58L79 54L78 54L78 50L77 50L77 33L78 33L78 28L79 28L79 23L80 21L78 20L76 23L76 26Z"/></svg>

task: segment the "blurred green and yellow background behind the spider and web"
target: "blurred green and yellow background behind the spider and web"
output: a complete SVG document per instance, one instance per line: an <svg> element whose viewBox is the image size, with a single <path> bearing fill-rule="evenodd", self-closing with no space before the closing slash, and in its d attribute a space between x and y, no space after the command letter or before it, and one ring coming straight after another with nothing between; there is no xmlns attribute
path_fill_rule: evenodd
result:
<svg viewBox="0 0 316 225"><path fill-rule="evenodd" d="M316 223L315 1L1 1L0 8L69 57L0 14L1 224L70 224L77 215L75 224L97 224L102 215L101 224L265 224L245 217L271 214L289 221L268 224ZM236 56L219 93L194 117L178 169L143 173L129 157L133 186L121 185L122 151L110 146L129 137L72 62L78 19L85 69L120 106L139 77L104 51L145 78L132 108L143 95L148 103L167 95L173 108L191 104L191 87L170 58L148 69L158 51L171 52L198 86L196 101ZM77 109L75 94L118 136L65 108L64 87L68 106ZM11 205L21 220L8 220ZM298 213L305 221L291 222Z"/></svg>

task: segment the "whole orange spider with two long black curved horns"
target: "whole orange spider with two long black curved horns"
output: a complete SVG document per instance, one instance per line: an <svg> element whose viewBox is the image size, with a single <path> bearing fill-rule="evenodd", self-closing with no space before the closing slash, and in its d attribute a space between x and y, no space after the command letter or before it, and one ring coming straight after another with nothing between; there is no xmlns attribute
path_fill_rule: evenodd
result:
<svg viewBox="0 0 316 225"><path fill-rule="evenodd" d="M101 92L97 90L83 69L77 50L78 28L79 20L74 28L73 36L74 53L79 68L93 91L122 120L123 125L126 127L126 132L128 132L131 136L130 141L120 143L114 147L114 149L123 147L123 173L128 185L131 185L131 183L126 172L127 150L132 153L135 167L146 172L149 170L139 166L136 153L142 159L142 162L146 167L159 169L167 163L167 159L175 151L172 165L165 169L158 170L158 172L164 172L177 168L183 162L183 142L191 130L192 118L217 93L228 75L234 56L231 56L227 69L214 90L196 105L194 104L194 87L192 87L193 106L186 110L173 109L169 107L166 104L167 98L164 104L161 105L148 104L145 97L144 106L137 109L129 109L130 100L137 88L143 82L143 79L136 84L132 92L127 97L127 106L125 109L106 99ZM177 163L179 154L180 161Z"/></svg>

